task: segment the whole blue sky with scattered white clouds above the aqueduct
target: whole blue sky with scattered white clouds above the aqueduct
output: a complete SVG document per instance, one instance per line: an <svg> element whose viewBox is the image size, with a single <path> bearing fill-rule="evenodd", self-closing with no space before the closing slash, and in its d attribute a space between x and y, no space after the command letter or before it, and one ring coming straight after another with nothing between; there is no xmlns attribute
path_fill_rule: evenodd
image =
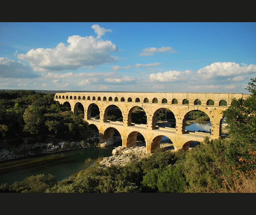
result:
<svg viewBox="0 0 256 215"><path fill-rule="evenodd" d="M0 89L249 93L256 23L0 23Z"/></svg>

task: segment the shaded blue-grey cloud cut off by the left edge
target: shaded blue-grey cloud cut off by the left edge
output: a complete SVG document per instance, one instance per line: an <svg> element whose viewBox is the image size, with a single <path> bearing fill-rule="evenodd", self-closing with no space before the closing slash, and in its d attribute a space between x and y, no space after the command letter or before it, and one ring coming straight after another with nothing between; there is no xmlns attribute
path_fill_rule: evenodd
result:
<svg viewBox="0 0 256 215"><path fill-rule="evenodd" d="M0 57L0 77L35 78L39 75L21 61Z"/></svg>

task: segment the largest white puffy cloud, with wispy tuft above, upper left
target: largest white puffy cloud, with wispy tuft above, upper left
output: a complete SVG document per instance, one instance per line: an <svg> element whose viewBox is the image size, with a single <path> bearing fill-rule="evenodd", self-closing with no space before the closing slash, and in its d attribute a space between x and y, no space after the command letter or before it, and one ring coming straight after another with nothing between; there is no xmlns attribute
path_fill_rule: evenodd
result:
<svg viewBox="0 0 256 215"><path fill-rule="evenodd" d="M93 25L98 38L106 31L98 25ZM55 48L31 49L26 54L18 54L20 60L29 62L37 71L61 71L65 69L76 70L79 67L93 67L104 63L116 62L110 52L118 52L119 49L111 41L103 41L93 36L81 37L73 35L68 37L66 46L59 43Z"/></svg>

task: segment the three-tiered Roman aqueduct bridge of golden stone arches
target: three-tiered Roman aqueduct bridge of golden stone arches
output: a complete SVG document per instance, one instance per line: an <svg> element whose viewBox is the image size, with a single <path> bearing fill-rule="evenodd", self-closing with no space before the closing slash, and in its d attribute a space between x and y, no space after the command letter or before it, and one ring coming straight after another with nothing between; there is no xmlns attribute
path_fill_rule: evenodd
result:
<svg viewBox="0 0 256 215"><path fill-rule="evenodd" d="M168 137L174 149L187 150L191 141L202 142L205 137L217 139L221 136L222 111L230 106L233 98L247 98L250 94L226 93L155 93L155 92L65 92L56 93L54 100L60 104L69 102L71 111L76 113L79 104L84 108L84 120L95 125L99 131L99 141L113 139L116 129L124 147L130 147L137 142L141 133L146 142L146 153L153 153L160 147L163 136ZM200 100L200 103L198 102ZM209 102L211 101L211 102ZM91 118L91 107L97 105L100 119ZM117 106L123 115L123 121L107 120L111 105ZM147 124L131 122L132 110L139 106L147 117ZM175 128L156 126L156 114L161 109L169 109L175 116ZM186 114L200 110L210 117L211 132L195 132L185 130Z"/></svg>

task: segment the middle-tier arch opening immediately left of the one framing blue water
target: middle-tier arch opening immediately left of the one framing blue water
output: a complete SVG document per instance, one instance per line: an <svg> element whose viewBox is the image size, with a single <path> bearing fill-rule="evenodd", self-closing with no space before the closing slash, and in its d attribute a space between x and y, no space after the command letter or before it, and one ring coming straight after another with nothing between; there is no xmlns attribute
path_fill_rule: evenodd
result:
<svg viewBox="0 0 256 215"><path fill-rule="evenodd" d="M163 116L162 114L165 114L165 116ZM168 122L157 123L156 121L159 119L163 119L161 121L168 121ZM154 112L153 117L152 117L152 130L156 129L156 125L158 125L160 127L175 128L176 118L175 118L174 113L170 109L167 109L167 108L157 109Z"/></svg>

